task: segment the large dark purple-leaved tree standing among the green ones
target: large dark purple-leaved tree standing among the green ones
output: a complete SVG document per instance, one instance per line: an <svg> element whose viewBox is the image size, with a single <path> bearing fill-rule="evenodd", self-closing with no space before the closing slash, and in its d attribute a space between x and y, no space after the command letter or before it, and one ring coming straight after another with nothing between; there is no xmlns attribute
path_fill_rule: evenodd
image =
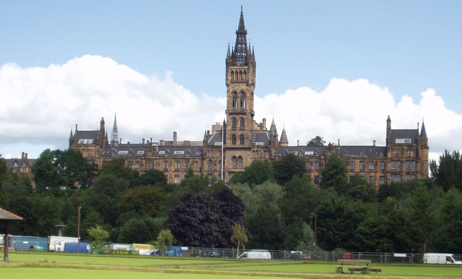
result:
<svg viewBox="0 0 462 279"><path fill-rule="evenodd" d="M230 247L233 224L243 212L243 202L228 189L213 195L188 193L170 209L164 229L170 229L180 245Z"/></svg>

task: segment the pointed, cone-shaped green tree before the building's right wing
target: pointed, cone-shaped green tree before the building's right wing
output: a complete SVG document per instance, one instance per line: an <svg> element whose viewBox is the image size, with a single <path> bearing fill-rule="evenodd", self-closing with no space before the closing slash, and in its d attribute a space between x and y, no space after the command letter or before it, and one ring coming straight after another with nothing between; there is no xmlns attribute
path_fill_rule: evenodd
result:
<svg viewBox="0 0 462 279"><path fill-rule="evenodd" d="M347 193L347 165L333 154L321 169L321 188L334 189L338 194Z"/></svg>

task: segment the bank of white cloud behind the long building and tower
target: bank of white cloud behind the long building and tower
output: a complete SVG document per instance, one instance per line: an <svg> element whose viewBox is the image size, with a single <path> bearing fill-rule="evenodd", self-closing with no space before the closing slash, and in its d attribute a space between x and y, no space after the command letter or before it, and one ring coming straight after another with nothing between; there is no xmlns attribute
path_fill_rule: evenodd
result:
<svg viewBox="0 0 462 279"><path fill-rule="evenodd" d="M85 55L63 65L0 68L0 153L36 157L38 148L66 148L71 127L96 129L101 117L110 131L117 112L124 141L141 138L201 140L204 130L222 122L225 96L197 96L165 77L145 76L110 58ZM279 134L284 126L291 145L305 144L320 135L343 145L383 145L386 119L393 128L415 128L425 117L432 158L458 149L462 115L445 107L433 89L417 102L408 96L399 101L388 88L364 79L332 79L320 92L309 87L283 94L255 97L255 119L272 117ZM420 124L421 125L421 124ZM109 135L110 136L110 135ZM21 144L19 144L21 143ZM31 148L33 150L28 150Z"/></svg>

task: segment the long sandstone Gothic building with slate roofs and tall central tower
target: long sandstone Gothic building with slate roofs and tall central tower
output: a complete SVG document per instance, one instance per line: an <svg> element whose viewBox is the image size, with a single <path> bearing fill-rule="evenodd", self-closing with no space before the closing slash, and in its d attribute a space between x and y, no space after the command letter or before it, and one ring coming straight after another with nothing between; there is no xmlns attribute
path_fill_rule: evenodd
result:
<svg viewBox="0 0 462 279"><path fill-rule="evenodd" d="M226 69L226 120L215 123L206 131L202 141L171 141L143 139L141 143L122 143L117 120L109 141L105 121L95 131L82 131L75 125L69 147L80 150L90 162L100 167L114 158L124 158L129 168L140 173L156 169L163 171L170 183L180 183L186 171L228 181L255 160L278 160L294 154L306 162L307 175L315 184L321 179L320 169L328 158L337 154L348 166L349 176L359 174L376 187L391 181L426 179L428 177L428 138L425 124L421 129L392 129L386 120L386 145L289 146L285 129L278 134L274 120L269 129L266 119L254 119L254 90L256 85L255 52L247 44L247 30L241 10L236 42L228 44ZM222 175L223 174L223 175Z"/></svg>

